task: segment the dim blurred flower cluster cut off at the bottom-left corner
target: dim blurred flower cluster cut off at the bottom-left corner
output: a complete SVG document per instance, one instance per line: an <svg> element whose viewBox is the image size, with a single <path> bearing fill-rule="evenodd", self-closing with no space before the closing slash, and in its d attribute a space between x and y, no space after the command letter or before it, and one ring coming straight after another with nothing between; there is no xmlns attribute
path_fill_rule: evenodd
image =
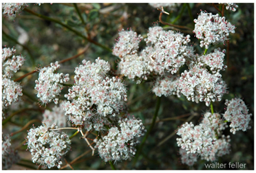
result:
<svg viewBox="0 0 256 173"><path fill-rule="evenodd" d="M17 150L13 150L10 143L10 135L2 135L2 169L9 169L12 164L19 161Z"/></svg>

